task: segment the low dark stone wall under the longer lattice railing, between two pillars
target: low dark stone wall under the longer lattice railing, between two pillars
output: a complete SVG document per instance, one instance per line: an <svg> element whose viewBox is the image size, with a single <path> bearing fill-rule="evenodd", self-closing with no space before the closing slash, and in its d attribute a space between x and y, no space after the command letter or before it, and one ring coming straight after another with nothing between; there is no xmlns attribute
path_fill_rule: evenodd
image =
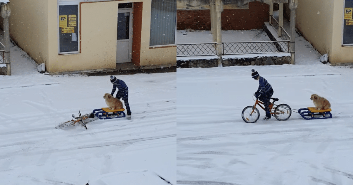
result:
<svg viewBox="0 0 353 185"><path fill-rule="evenodd" d="M252 58L226 58L223 56L222 66L265 66L290 64L291 56L260 56Z"/></svg>

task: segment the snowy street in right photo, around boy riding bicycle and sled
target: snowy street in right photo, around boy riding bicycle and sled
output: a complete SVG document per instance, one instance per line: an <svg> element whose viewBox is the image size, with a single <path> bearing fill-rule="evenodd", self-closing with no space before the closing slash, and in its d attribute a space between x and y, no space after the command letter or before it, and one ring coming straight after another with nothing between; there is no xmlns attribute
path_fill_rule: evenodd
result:
<svg viewBox="0 0 353 185"><path fill-rule="evenodd" d="M274 89L275 104L291 106L287 121L245 123L258 81ZM351 68L321 65L182 68L177 71L177 184L353 184ZM294 109L327 98L334 118L305 120ZM183 115L183 116L180 116Z"/></svg>

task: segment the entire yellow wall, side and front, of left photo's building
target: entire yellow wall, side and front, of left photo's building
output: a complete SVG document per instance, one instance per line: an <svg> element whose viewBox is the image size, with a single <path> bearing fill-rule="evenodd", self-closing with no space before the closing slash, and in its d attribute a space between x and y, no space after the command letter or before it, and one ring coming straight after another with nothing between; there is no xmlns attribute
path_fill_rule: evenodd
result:
<svg viewBox="0 0 353 185"><path fill-rule="evenodd" d="M141 1L140 66L176 64L176 47L149 46L151 0L82 3L79 54L59 55L56 0L11 0L10 35L37 63L45 62L49 73L113 69L116 67L118 4Z"/></svg>

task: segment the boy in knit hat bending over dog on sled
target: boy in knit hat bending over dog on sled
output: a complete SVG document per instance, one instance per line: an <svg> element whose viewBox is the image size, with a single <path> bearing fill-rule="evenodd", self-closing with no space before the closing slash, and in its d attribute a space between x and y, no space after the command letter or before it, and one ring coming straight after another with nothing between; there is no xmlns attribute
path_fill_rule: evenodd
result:
<svg viewBox="0 0 353 185"><path fill-rule="evenodd" d="M118 92L116 93L115 98L120 98L124 100L124 104L126 107L126 112L127 112L127 119L131 119L131 111L130 111L130 105L129 105L129 88L125 84L124 81L117 79L115 76L110 75L110 82L113 84L113 89L112 89L112 96L114 97L114 93L116 91L116 88L118 88Z"/></svg>

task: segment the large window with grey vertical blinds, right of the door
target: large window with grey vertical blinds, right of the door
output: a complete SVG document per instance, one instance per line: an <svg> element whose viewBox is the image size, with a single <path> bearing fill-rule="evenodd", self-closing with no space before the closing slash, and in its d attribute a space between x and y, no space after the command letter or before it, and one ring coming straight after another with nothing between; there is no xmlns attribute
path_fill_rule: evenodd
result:
<svg viewBox="0 0 353 185"><path fill-rule="evenodd" d="M175 42L177 0L152 0L150 46Z"/></svg>

